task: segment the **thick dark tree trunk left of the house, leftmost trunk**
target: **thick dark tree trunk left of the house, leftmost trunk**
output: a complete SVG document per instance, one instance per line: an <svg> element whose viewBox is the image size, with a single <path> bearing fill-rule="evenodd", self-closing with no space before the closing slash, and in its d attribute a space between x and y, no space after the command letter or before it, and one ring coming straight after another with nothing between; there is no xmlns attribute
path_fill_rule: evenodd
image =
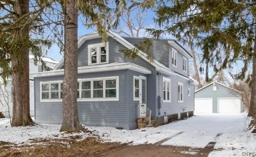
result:
<svg viewBox="0 0 256 157"><path fill-rule="evenodd" d="M29 12L28 0L14 2L15 21L19 24L26 22L20 18ZM28 126L34 122L30 117L29 106L29 27L13 32L17 50L11 53L12 86L13 86L13 122L11 126ZM18 39L20 36L23 38Z"/></svg>

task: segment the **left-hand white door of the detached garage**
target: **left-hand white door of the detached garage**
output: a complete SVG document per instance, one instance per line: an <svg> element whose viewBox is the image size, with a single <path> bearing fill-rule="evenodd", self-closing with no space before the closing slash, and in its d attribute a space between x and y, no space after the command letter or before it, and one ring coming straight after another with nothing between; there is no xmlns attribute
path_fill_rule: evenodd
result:
<svg viewBox="0 0 256 157"><path fill-rule="evenodd" d="M195 113L212 113L212 98L195 98Z"/></svg>

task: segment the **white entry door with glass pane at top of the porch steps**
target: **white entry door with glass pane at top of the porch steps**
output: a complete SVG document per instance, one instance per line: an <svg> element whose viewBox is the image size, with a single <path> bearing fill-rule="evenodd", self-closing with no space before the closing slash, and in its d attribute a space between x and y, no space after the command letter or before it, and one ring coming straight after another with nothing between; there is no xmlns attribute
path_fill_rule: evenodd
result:
<svg viewBox="0 0 256 157"><path fill-rule="evenodd" d="M140 118L146 117L146 77L140 76Z"/></svg>

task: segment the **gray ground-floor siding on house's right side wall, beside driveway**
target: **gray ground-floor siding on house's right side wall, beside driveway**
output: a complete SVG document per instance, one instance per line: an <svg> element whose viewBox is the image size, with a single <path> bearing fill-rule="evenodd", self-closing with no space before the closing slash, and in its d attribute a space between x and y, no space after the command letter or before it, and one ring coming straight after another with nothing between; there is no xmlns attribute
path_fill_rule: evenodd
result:
<svg viewBox="0 0 256 157"><path fill-rule="evenodd" d="M163 77L171 79L171 102L163 102ZM178 82L183 83L183 102L178 102ZM160 114L182 113L186 111L194 111L194 85L190 84L187 79L179 76L168 76L161 74L156 77L157 95L161 96ZM159 84L159 85L158 85ZM187 89L190 88L190 96L187 94Z"/></svg>

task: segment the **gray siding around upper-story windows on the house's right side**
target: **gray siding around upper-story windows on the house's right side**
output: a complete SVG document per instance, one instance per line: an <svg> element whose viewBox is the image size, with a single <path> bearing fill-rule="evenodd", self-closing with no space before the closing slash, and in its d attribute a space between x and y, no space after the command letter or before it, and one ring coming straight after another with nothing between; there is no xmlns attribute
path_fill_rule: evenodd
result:
<svg viewBox="0 0 256 157"><path fill-rule="evenodd" d="M176 67L172 65L172 46L169 46L169 68L178 74L188 77L188 58L185 57L181 52L177 51ZM183 71L183 57L187 58L187 72Z"/></svg>

